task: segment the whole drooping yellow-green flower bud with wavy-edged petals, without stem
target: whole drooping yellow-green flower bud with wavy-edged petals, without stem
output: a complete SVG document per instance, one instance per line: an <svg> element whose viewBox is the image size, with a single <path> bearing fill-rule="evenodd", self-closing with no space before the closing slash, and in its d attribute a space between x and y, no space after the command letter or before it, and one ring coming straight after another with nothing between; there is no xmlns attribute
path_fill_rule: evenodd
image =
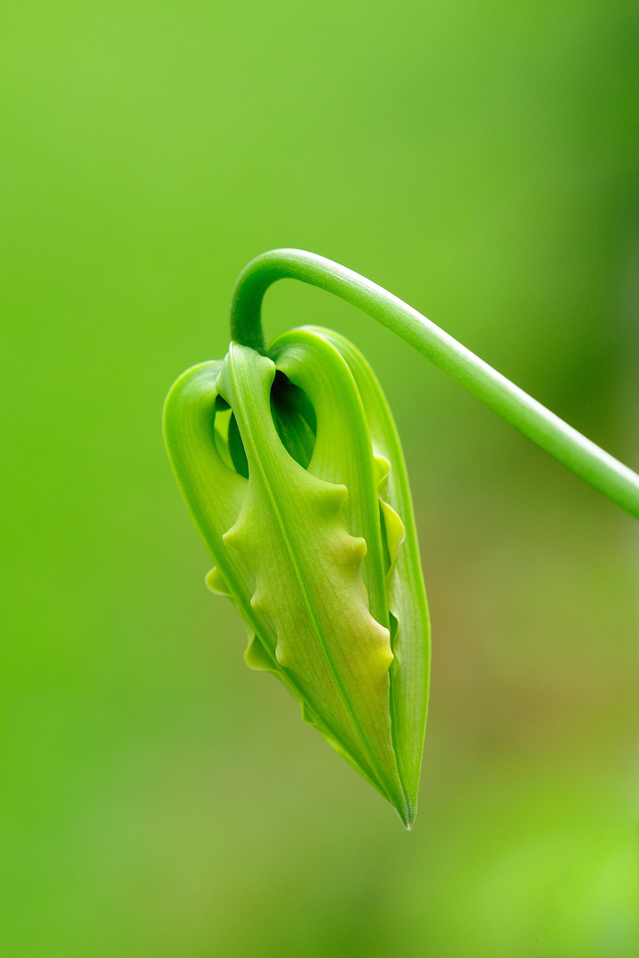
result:
<svg viewBox="0 0 639 958"><path fill-rule="evenodd" d="M373 371L329 330L262 355L231 343L165 408L171 465L240 610L245 660L274 673L410 828L429 627L399 438Z"/></svg>

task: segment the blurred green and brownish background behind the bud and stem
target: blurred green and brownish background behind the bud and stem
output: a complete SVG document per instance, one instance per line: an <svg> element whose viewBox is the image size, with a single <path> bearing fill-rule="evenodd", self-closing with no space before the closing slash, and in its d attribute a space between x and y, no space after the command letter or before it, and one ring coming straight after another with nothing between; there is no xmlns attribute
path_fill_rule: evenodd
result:
<svg viewBox="0 0 639 958"><path fill-rule="evenodd" d="M392 334L413 833L242 662L164 452L240 268L344 262L639 468L639 5L0 8L2 958L634 958L639 524Z"/></svg>

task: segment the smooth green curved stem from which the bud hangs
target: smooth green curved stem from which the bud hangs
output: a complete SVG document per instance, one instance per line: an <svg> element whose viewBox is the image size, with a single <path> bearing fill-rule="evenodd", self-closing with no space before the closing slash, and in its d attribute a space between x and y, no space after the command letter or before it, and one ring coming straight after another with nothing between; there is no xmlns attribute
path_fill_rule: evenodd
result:
<svg viewBox="0 0 639 958"><path fill-rule="evenodd" d="M233 294L232 339L265 352L260 318L262 298L269 285L285 278L326 289L397 332L524 436L639 518L636 472L560 420L417 309L337 262L299 249L271 250L249 262L240 273Z"/></svg>

